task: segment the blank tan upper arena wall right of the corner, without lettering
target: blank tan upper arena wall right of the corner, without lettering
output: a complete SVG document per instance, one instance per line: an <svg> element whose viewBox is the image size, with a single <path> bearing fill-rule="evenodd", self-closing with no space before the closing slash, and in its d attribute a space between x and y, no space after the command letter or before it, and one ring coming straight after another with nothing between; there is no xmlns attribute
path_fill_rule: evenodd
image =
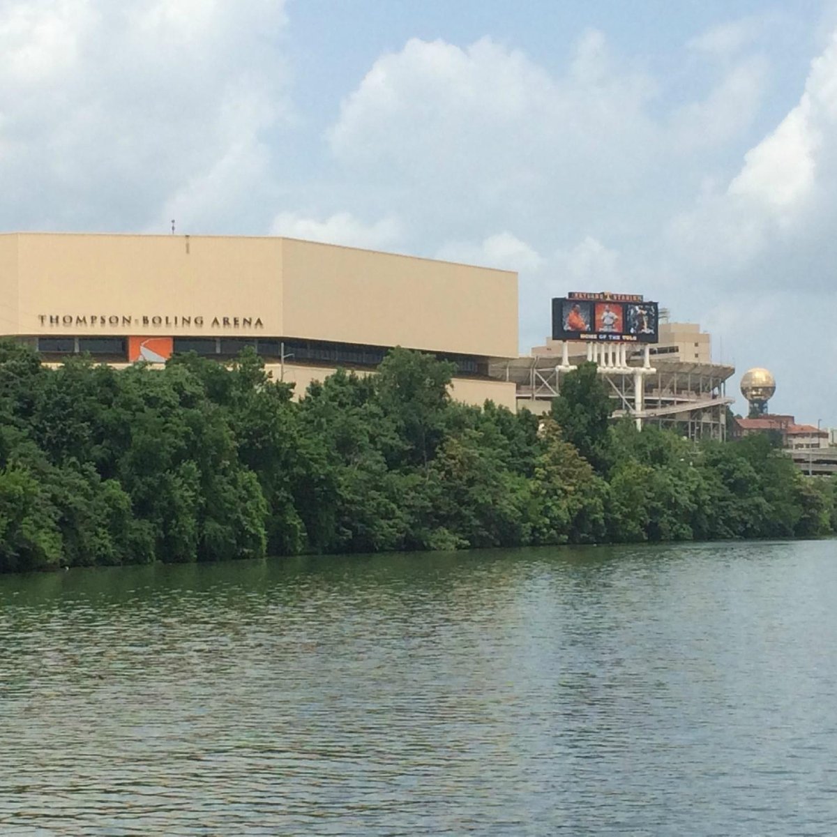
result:
<svg viewBox="0 0 837 837"><path fill-rule="evenodd" d="M285 334L517 354L516 274L284 239Z"/></svg>

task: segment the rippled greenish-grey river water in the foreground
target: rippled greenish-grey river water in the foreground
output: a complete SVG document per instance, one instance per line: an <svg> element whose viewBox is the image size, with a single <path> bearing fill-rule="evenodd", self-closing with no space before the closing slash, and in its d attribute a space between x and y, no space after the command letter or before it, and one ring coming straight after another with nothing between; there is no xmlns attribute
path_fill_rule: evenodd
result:
<svg viewBox="0 0 837 837"><path fill-rule="evenodd" d="M835 552L0 577L0 834L837 834Z"/></svg>

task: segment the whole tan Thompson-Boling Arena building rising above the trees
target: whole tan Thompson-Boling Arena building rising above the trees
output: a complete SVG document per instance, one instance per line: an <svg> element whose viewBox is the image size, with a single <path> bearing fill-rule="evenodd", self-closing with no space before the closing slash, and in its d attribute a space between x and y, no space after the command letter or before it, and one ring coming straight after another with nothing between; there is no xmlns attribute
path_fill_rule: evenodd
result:
<svg viewBox="0 0 837 837"><path fill-rule="evenodd" d="M48 361L251 345L301 394L403 346L456 363L454 398L515 406L514 384L488 376L517 355L510 271L275 237L3 234L0 300L0 333Z"/></svg>

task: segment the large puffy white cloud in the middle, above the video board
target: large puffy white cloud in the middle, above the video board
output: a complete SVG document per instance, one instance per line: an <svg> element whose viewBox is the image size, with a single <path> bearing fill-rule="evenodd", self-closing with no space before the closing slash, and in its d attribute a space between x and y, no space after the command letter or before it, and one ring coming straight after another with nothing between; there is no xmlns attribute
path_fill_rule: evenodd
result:
<svg viewBox="0 0 837 837"><path fill-rule="evenodd" d="M624 194L655 165L644 113L653 91L614 66L599 33L583 37L565 78L491 39L466 48L412 39L377 59L327 138L343 171L383 200L409 193L425 224L461 229L503 213L533 229L606 211L603 196ZM551 217L533 203L550 204Z"/></svg>

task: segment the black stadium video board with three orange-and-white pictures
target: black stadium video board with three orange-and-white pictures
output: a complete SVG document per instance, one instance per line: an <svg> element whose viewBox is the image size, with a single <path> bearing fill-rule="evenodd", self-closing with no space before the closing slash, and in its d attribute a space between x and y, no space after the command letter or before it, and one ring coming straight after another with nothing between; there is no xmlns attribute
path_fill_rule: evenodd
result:
<svg viewBox="0 0 837 837"><path fill-rule="evenodd" d="M638 294L576 291L552 300L552 339L656 343L658 314Z"/></svg>

